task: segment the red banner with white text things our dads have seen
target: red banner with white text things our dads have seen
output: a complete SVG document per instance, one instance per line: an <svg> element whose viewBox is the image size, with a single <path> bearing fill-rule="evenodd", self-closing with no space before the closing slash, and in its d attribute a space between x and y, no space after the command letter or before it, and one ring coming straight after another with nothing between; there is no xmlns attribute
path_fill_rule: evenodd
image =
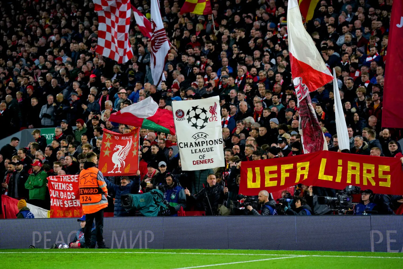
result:
<svg viewBox="0 0 403 269"><path fill-rule="evenodd" d="M80 204L79 175L48 177L51 218L75 218L83 215Z"/></svg>

